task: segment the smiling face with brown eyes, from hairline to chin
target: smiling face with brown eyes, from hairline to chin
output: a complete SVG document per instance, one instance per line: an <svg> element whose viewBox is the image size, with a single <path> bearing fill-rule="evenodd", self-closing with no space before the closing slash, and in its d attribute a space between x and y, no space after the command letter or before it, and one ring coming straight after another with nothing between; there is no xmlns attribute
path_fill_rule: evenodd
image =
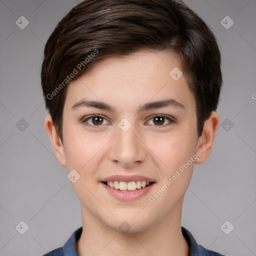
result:
<svg viewBox="0 0 256 256"><path fill-rule="evenodd" d="M126 221L134 232L180 217L202 140L194 97L173 68L182 71L173 54L138 51L68 85L57 156L78 178L71 184L84 216L115 229Z"/></svg>

